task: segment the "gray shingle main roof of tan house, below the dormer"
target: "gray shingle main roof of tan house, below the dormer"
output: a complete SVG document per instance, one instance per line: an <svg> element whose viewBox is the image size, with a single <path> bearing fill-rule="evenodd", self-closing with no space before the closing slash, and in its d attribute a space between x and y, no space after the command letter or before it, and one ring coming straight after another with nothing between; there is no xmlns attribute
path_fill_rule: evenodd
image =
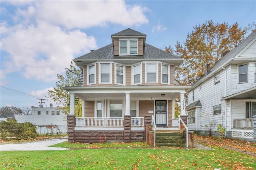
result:
<svg viewBox="0 0 256 170"><path fill-rule="evenodd" d="M82 61L87 59L95 59L97 60L104 60L104 59L177 59L180 60L180 57L176 57L175 55L172 55L170 53L167 53L166 51L163 51L161 49L158 49L156 47L153 47L152 45L149 45L146 43L144 49L143 55L132 55L132 56L114 56L114 47L112 44L109 44L105 47L102 47L100 49L97 49L95 51L92 51L90 53L87 53L85 55L82 55L74 61Z"/></svg>

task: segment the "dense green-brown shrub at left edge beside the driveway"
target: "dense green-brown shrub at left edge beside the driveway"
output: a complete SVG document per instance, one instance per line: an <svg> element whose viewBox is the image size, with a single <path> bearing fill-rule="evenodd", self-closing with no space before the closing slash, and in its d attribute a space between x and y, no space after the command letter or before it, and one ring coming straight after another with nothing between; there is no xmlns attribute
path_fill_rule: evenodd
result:
<svg viewBox="0 0 256 170"><path fill-rule="evenodd" d="M13 119L0 122L0 137L4 140L33 139L37 136L36 126L32 123L17 123L17 121Z"/></svg>

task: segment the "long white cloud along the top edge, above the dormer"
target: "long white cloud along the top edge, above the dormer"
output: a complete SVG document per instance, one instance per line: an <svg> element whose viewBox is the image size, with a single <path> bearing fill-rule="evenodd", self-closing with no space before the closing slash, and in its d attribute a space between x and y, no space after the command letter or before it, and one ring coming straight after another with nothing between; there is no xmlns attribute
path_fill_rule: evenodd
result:
<svg viewBox="0 0 256 170"><path fill-rule="evenodd" d="M124 1L40 1L37 17L68 29L104 26L108 23L123 26L148 23L143 14L147 8L127 6Z"/></svg>

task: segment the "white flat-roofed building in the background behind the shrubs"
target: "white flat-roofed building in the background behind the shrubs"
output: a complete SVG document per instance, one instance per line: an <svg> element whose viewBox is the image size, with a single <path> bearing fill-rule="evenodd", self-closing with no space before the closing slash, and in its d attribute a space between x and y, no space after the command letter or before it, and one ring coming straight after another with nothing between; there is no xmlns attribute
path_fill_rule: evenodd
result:
<svg viewBox="0 0 256 170"><path fill-rule="evenodd" d="M16 115L18 123L30 122L36 125L40 134L67 133L66 115L57 107L31 107L31 115Z"/></svg>

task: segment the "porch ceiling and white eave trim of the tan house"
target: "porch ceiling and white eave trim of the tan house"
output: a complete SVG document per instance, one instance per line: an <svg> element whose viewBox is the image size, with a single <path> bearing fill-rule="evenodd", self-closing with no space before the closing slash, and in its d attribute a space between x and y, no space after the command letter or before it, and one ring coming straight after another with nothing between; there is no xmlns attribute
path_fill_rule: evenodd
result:
<svg viewBox="0 0 256 170"><path fill-rule="evenodd" d="M95 100L99 98L125 98L125 93L130 93L130 98L137 99L158 99L158 100L175 100L180 96L180 93L185 93L185 90L190 86L137 86L137 87L64 87L70 93L82 100ZM164 94L164 96L162 96Z"/></svg>

